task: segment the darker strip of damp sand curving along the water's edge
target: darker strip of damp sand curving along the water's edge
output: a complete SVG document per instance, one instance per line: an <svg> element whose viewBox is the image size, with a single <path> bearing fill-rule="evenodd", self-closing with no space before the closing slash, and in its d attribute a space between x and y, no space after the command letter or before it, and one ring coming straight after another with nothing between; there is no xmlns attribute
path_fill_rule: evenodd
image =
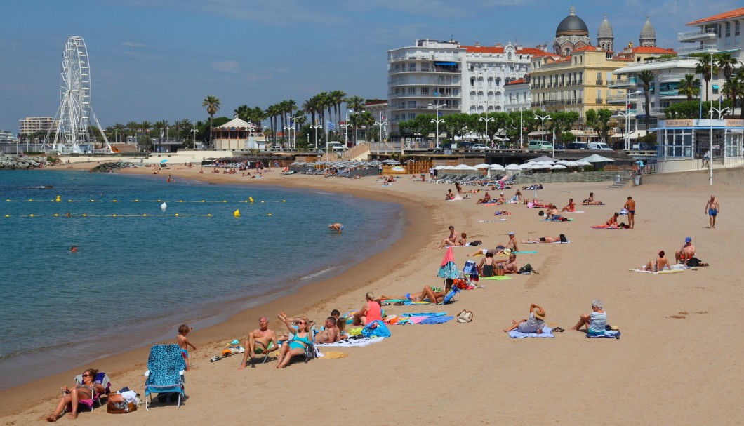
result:
<svg viewBox="0 0 744 426"><path fill-rule="evenodd" d="M87 166L89 165L92 166L93 163L77 163L74 164L74 167L72 168L65 168L60 170L87 170ZM358 274L357 269L369 271L370 269L374 269L371 268L372 265L376 265L378 263L388 265L391 262L397 262L396 259L403 258L404 253L411 253L415 246L418 245L420 247L426 245L426 242L429 242L429 239L427 238L428 235L430 233L433 233L434 230L434 225L432 225L432 222L411 221L411 217L426 216L427 209L426 207L422 207L414 203L413 201L410 201L403 197L391 200L389 198L386 198L382 193L369 190L359 190L356 188L344 189L341 187L336 187L331 190L327 187L327 185L317 184L317 182L310 184L309 181L299 181L297 179L292 179L291 184L288 181L282 182L275 179L266 178L251 179L249 181L235 181L232 179L225 180L224 178L222 178L222 174L199 174L198 172L188 173L184 172L185 170L194 171L196 169L170 170L167 173L161 172L161 175L170 174L176 178L193 179L207 184L217 183L225 185L256 186L272 185L289 189L301 188L304 190L323 190L324 192L328 193L344 193L350 196L365 198L372 201L394 202L396 204L400 204L403 212L403 218L401 219L401 231L403 232L403 236L395 239L389 248L383 251L379 251L378 253L374 254L371 257L368 257L367 259L362 259L349 268L344 268L344 271L341 271L341 273L336 274L333 277L322 278L321 280L311 279L312 281L310 283L303 284L299 288L290 287L277 292L262 294L259 297L262 301L259 302L259 304L257 304L256 306L252 306L247 309L239 309L239 311L234 314L214 314L196 321L196 323L202 323L205 321L211 323L211 325L207 326L205 329L196 329L196 331L191 335L192 337L190 338L190 341L195 343L197 346L214 346L217 343L231 340L228 339L231 336L240 336L240 338L243 338L248 334L248 331L250 331L250 329L254 328L254 323L256 322L257 317L261 315L266 315L269 317L269 320L272 320L274 312L279 312L280 310L295 312L298 314L308 311L317 311L320 309L319 305L323 303L322 301L334 300L353 291L359 291L360 295L364 294L367 290L364 289L363 284L353 284L353 277ZM135 169L119 170L118 173L144 175L150 174L149 171L150 168L148 167L138 167ZM227 175L227 177L229 178L240 176ZM368 283L370 281L377 280L385 273L385 271L379 271L379 276L377 277L375 275L365 274L367 276L366 282ZM286 292L289 292L289 294L285 294ZM275 294L279 295L276 296ZM248 300L249 299L242 300L241 303L247 303ZM359 304L361 304L361 302ZM326 310L330 312L330 309ZM322 322L322 318L318 317L318 320L315 321L316 323ZM165 333L170 332L171 330L168 330ZM80 368L84 368L86 366L94 364L96 365L97 369L106 371L109 377L112 377L112 375L120 375L122 372L131 372L132 370L137 369L138 366L144 365L144 362L138 362L135 363L134 366L132 366L131 360L147 360L147 353L149 352L151 344L172 343L172 341L175 341L175 334L173 334L173 338L163 338L163 340L156 339L156 341L152 343L148 343L147 341L145 341L143 343L144 346L128 349L124 352L119 352L113 355L106 355L102 358L98 358L95 361L73 366L72 368L67 369L65 372L48 375L44 378L35 379L19 386L0 390L0 401L6 402L5 404L0 405L0 418L3 416L17 414L22 411L22 408L20 408L20 404L22 404L22 401L28 401L28 399L32 396L41 398L50 398L54 396L56 398L57 391L54 390L56 389L54 384L67 383L69 381L69 378L74 377L75 372L77 372L77 370ZM147 367L144 367L144 369L147 369ZM51 391L48 393L44 393L39 392L39 389L50 389Z"/></svg>

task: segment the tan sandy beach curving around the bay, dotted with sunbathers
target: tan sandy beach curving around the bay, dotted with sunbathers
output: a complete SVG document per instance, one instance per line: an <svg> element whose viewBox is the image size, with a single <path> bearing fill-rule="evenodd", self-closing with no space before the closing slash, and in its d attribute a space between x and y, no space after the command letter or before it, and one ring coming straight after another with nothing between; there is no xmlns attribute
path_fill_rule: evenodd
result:
<svg viewBox="0 0 744 426"><path fill-rule="evenodd" d="M87 169L95 164L76 164ZM152 173L148 167L126 173ZM599 184L550 184L538 191L539 199L558 207L569 198L581 201L594 192L603 206L578 205L566 216L573 222L541 222L539 209L522 204L483 206L471 199L443 201L454 185L414 181L400 177L391 187L376 178L358 180L288 175L278 171L263 179L237 175L199 174L199 167L171 166L159 175L234 184L270 184L319 188L369 199L394 201L405 209L405 233L388 251L344 271L337 277L312 283L296 294L237 313L225 322L196 329L189 339L199 349L190 352L187 400L144 406L135 413L111 415L106 407L92 413L81 410L80 425L214 424L217 422L292 421L324 425L368 422L376 425L440 425L466 422L475 425L737 425L744 422L736 383L742 377L740 352L744 343L734 329L743 290L736 284L742 270L737 253L744 225L732 220L743 211L740 173L719 172L708 186L707 172L656 175L640 187L608 190ZM465 190L478 187L465 187ZM482 188L481 188L482 190ZM708 228L705 202L711 191L722 213L715 229ZM504 190L512 196L514 190ZM533 198L532 191L522 191ZM491 192L498 195L498 191ZM627 196L636 200L634 230L599 230ZM507 210L509 216L494 216ZM504 221L498 219L506 219ZM330 220L330 219L329 219ZM620 217L627 222L626 216ZM329 222L319 222L326 226ZM447 312L474 313L472 323L450 321L438 325L391 326L392 337L365 347L332 348L346 358L294 362L275 369L276 361L238 370L240 358L214 363L209 358L225 343L242 339L257 327L260 316L269 328L285 327L280 311L304 314L321 323L332 309L356 310L364 294L405 294L424 285L440 285L436 277L443 249L435 247L454 225L483 248L516 239L557 236L570 244L520 245L519 265L530 263L537 274L511 280L481 280L446 306L385 306L389 314ZM659 250L673 261L674 251L690 236L697 257L710 266L680 274L641 274L629 269L645 264ZM459 268L474 248L455 248ZM478 261L480 257L476 257ZM618 326L622 338L587 339L569 329L580 314L591 312L600 299L608 323ZM555 338L512 339L501 329L511 320L524 319L530 303L545 307L545 321L565 332ZM727 320L722 320L725 316ZM715 321L711 323L711 320ZM718 327L725 324L730 332ZM730 333L730 335L729 335ZM164 343L175 343L173 339ZM68 372L24 384L0 393L1 425L45 423L54 410L60 387L71 385L83 368L105 371L112 389L130 387L144 393L143 372L149 347L94 360Z"/></svg>

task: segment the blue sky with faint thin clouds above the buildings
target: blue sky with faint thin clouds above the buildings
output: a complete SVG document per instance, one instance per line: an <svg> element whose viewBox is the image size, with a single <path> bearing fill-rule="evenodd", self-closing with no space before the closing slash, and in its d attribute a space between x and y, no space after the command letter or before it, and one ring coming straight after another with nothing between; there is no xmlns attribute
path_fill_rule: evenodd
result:
<svg viewBox="0 0 744 426"><path fill-rule="evenodd" d="M687 22L740 7L740 0L3 0L0 2L0 129L53 117L69 36L86 42L92 108L101 126L205 120L240 105L321 91L387 98L387 54L416 39L461 45L552 45L571 4L592 44L607 13L615 50L638 45L649 15L657 46L676 48ZM267 123L264 123L267 125Z"/></svg>

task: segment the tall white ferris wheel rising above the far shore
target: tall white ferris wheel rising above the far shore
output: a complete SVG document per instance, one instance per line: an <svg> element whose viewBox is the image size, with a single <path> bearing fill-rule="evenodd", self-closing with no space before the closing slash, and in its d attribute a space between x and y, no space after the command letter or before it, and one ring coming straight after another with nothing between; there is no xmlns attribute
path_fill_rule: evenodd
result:
<svg viewBox="0 0 744 426"><path fill-rule="evenodd" d="M109 140L98 123L91 107L91 68L86 42L82 37L70 36L62 51L60 73L60 108L44 139L45 148L60 154L79 152L112 153ZM91 117L102 140L92 138L89 127ZM53 133L54 132L54 133Z"/></svg>

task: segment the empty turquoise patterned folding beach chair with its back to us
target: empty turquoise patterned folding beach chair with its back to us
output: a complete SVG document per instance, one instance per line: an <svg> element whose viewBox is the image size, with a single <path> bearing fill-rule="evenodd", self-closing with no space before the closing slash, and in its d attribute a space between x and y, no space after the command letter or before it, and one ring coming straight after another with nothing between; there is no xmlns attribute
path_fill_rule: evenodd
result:
<svg viewBox="0 0 744 426"><path fill-rule="evenodd" d="M178 404L181 407L181 397L186 396L184 391L184 370L186 360L182 355L179 345L155 345L150 349L150 358L147 358L147 371L144 373L144 409L148 410L148 404L152 404L152 394L158 394L161 400L163 394L165 399L176 394Z"/></svg>

